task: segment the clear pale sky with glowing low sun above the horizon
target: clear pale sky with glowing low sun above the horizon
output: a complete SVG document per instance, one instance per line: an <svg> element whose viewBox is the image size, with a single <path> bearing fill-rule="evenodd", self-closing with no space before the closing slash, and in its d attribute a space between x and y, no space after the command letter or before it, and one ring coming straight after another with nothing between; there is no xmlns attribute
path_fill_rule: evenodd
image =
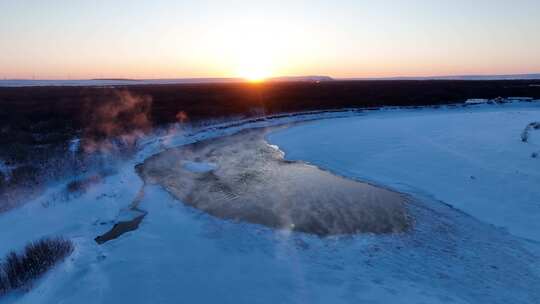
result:
<svg viewBox="0 0 540 304"><path fill-rule="evenodd" d="M0 0L0 78L539 72L539 0Z"/></svg>

